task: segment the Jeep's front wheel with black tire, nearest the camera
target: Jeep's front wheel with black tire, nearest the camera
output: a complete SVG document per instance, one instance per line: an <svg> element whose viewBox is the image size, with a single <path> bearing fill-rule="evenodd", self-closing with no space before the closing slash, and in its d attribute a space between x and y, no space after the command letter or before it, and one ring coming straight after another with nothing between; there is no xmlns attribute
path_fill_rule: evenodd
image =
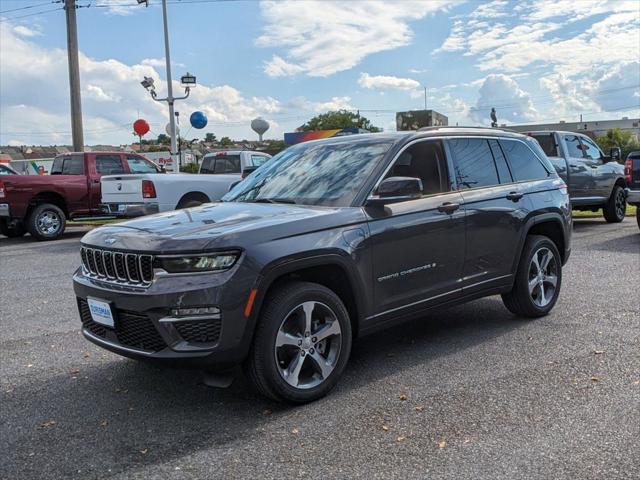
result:
<svg viewBox="0 0 640 480"><path fill-rule="evenodd" d="M245 371L278 401L317 400L338 382L351 353L351 322L340 298L309 282L283 284L265 300Z"/></svg>

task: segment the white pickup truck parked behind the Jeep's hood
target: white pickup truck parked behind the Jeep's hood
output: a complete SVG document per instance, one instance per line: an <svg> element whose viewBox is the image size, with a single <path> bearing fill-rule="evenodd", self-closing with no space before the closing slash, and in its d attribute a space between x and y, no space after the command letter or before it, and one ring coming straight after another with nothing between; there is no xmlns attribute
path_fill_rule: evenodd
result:
<svg viewBox="0 0 640 480"><path fill-rule="evenodd" d="M131 218L215 202L269 158L262 152L220 151L205 155L196 175L103 176L101 210L108 215Z"/></svg>

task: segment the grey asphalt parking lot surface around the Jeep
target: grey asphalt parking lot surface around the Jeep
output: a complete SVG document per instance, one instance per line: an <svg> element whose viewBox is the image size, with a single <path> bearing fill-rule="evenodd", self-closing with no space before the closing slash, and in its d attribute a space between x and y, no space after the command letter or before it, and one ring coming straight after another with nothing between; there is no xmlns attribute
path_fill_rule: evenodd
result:
<svg viewBox="0 0 640 480"><path fill-rule="evenodd" d="M295 408L85 341L82 234L0 237L0 478L640 478L633 218L575 222L548 317L498 297L434 312L361 339Z"/></svg>

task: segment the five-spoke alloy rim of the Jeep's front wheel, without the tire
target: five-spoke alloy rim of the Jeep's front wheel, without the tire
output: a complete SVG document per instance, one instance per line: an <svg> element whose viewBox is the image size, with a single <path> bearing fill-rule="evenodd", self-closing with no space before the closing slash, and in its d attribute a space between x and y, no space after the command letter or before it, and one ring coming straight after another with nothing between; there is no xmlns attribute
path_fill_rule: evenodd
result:
<svg viewBox="0 0 640 480"><path fill-rule="evenodd" d="M342 329L324 303L304 302L282 321L274 346L280 376L292 387L309 389L324 382L340 357Z"/></svg>

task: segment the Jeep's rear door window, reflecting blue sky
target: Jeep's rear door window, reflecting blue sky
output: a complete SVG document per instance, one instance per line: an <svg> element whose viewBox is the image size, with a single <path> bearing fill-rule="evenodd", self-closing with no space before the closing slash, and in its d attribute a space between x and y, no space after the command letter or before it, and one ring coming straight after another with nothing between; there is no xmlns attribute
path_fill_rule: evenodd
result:
<svg viewBox="0 0 640 480"><path fill-rule="evenodd" d="M458 189L498 185L498 172L489 148L483 138L456 138L449 140L455 165Z"/></svg>

